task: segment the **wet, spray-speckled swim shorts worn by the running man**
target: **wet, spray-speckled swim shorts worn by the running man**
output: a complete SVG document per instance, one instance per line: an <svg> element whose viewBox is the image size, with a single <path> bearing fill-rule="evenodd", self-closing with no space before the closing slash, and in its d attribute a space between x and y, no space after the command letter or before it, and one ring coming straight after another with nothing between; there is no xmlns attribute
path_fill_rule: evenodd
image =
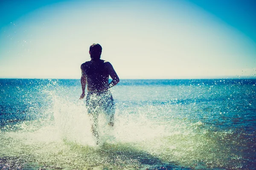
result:
<svg viewBox="0 0 256 170"><path fill-rule="evenodd" d="M100 112L112 116L114 110L114 99L110 91L102 93L88 92L86 96L87 113L98 116Z"/></svg>

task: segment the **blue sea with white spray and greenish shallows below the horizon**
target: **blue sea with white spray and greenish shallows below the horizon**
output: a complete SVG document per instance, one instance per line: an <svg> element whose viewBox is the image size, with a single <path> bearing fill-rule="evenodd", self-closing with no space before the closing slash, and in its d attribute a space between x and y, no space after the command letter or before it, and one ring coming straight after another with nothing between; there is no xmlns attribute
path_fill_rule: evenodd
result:
<svg viewBox="0 0 256 170"><path fill-rule="evenodd" d="M1 170L255 170L256 79L121 79L91 133L79 79L0 79Z"/></svg>

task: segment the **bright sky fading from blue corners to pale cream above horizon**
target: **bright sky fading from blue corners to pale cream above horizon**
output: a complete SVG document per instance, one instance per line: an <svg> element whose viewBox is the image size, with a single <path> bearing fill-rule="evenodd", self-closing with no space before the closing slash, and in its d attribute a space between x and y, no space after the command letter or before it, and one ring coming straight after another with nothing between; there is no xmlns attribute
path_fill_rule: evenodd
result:
<svg viewBox="0 0 256 170"><path fill-rule="evenodd" d="M0 78L256 78L255 0L0 0Z"/></svg>

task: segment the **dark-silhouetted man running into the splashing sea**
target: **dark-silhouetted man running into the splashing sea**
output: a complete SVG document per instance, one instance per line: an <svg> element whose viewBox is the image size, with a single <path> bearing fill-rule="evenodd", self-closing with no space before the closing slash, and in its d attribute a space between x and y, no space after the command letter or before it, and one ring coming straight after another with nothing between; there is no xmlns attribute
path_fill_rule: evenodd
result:
<svg viewBox="0 0 256 170"><path fill-rule="evenodd" d="M85 96L85 86L87 84L87 113L92 119L91 131L98 140L99 132L97 126L99 112L105 112L109 117L108 125L112 127L114 125L114 100L109 88L119 82L119 77L110 62L100 59L102 54L101 45L91 45L89 54L91 60L81 65L82 94L80 99L83 99ZM110 83L108 83L109 76L112 78Z"/></svg>

